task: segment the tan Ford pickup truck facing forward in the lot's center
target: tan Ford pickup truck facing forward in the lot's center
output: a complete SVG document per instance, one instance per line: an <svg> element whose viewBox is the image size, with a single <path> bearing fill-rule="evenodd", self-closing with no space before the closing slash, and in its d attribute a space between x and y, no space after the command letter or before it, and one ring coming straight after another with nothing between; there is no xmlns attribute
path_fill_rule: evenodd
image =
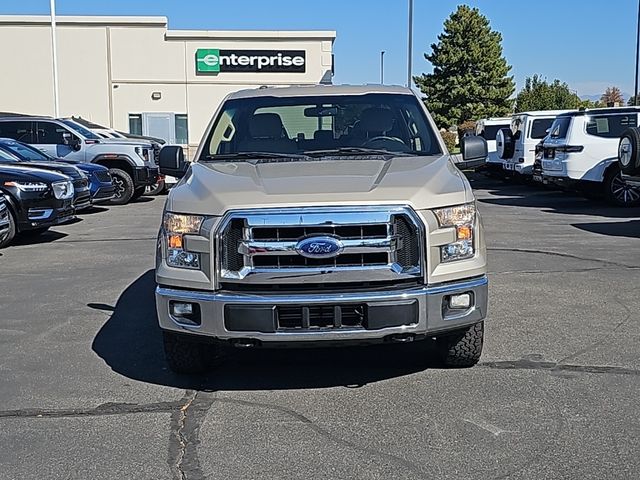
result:
<svg viewBox="0 0 640 480"><path fill-rule="evenodd" d="M487 146L467 137L463 164ZM180 177L157 243L156 304L177 372L241 348L423 342L471 366L487 313L469 182L424 104L401 87L229 95Z"/></svg>

